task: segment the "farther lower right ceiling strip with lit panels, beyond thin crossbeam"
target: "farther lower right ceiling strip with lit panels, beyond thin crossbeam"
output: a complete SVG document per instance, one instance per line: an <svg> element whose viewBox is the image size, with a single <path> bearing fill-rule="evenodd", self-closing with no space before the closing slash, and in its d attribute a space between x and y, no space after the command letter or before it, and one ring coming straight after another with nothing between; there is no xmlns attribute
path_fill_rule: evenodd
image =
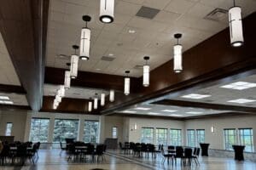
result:
<svg viewBox="0 0 256 170"><path fill-rule="evenodd" d="M148 109L137 110L137 109ZM134 112L135 111L135 112ZM167 106L167 105L134 105L123 111L116 111L122 114L135 114L145 116L173 116L173 117L189 117L189 116L207 116L212 114L220 114L230 111L218 111L211 109L200 109L193 107L179 107L179 106Z"/></svg>

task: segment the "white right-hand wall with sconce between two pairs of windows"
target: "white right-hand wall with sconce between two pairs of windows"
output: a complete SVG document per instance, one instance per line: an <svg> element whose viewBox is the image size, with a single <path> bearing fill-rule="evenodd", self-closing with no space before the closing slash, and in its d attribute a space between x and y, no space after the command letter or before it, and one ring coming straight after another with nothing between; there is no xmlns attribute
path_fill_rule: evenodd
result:
<svg viewBox="0 0 256 170"><path fill-rule="evenodd" d="M211 127L215 132L211 133ZM253 143L256 146L256 116L229 116L209 119L195 119L185 122L186 129L205 129L206 143L211 149L224 150L224 128L253 128Z"/></svg>

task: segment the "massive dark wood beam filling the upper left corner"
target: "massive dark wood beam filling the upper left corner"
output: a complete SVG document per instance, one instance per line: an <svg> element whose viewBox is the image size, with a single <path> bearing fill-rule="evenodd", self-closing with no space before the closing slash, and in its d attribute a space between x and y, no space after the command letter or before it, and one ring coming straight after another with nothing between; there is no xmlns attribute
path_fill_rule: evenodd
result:
<svg viewBox="0 0 256 170"><path fill-rule="evenodd" d="M48 8L49 0L0 2L0 31L26 99L36 111L43 102Z"/></svg>

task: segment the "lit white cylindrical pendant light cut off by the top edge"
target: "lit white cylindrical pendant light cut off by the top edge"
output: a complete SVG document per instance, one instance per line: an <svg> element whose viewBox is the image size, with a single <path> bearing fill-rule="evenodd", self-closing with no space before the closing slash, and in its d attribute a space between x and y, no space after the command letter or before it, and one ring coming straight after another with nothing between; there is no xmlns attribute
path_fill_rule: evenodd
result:
<svg viewBox="0 0 256 170"><path fill-rule="evenodd" d="M100 20L102 23L113 22L114 0L101 0Z"/></svg>

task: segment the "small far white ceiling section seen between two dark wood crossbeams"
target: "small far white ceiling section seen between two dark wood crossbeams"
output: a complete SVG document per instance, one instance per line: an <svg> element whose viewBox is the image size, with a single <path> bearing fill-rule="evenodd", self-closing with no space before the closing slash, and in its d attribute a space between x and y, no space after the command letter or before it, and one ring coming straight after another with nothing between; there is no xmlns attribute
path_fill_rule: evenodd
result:
<svg viewBox="0 0 256 170"><path fill-rule="evenodd" d="M58 85L51 85L51 84L44 84L44 96L55 96L57 89L60 86ZM99 89L99 88L78 88L78 87L71 87L65 91L65 98L72 98L72 99L90 99L94 98L98 94L98 98L100 98L100 94L105 94L108 96L109 91Z"/></svg>

